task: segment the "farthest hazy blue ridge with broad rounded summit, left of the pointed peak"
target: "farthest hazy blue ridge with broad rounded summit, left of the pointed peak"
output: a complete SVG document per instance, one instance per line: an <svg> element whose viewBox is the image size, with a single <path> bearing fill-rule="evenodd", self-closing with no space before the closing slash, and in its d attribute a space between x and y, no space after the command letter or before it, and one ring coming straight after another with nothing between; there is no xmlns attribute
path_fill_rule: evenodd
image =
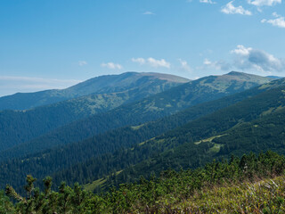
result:
<svg viewBox="0 0 285 214"><path fill-rule="evenodd" d="M0 110L28 110L37 106L58 103L83 95L102 95L136 88L152 94L166 90L189 79L169 74L126 72L120 75L105 75L91 78L75 86L61 90L46 90L36 93L17 93L0 97ZM157 87L151 85L157 84ZM148 88L148 87L151 88Z"/></svg>

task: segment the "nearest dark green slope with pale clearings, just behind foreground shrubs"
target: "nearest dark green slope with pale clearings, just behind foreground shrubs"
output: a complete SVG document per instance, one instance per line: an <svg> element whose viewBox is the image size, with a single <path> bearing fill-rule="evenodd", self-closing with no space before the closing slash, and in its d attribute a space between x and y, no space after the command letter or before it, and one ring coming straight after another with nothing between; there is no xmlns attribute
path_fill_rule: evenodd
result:
<svg viewBox="0 0 285 214"><path fill-rule="evenodd" d="M150 177L151 172L155 173L168 168L176 170L179 170L181 167L184 169L189 167L197 168L204 164L205 161L211 161L217 157L228 158L230 155L229 152L226 152L228 147L227 145L223 145L226 142L229 144L232 151L238 151L235 148L240 148L241 152L235 153L239 155L250 151L260 152L258 147L263 148L263 151L273 149L275 152L285 153L283 148L280 149L280 146L284 144L282 141L282 135L284 136L284 122L282 122L281 119L283 119L285 115L285 79L278 80L277 82L282 84L282 86L276 87L276 82L269 83L267 85L272 86L272 88L265 90L259 95L248 97L245 101L235 103L232 106L193 120L180 128L175 128L161 136L137 144L132 149L114 152L113 156L109 154L108 157L90 159L89 161L85 161L85 163L81 164L79 163L66 171L59 171L53 176L67 180L69 179L70 171L75 173L74 169L80 170L85 164L88 166L88 169L94 173L94 176L96 176L100 171L98 171L98 168L95 166L97 166L97 162L101 160L101 166L104 165L104 161L108 161L108 169L103 169L107 171L113 171L112 169L115 169L115 171L117 170L120 172L118 176L112 177L109 183L109 185L114 184L111 182L116 181L117 183L115 183L118 185L120 182L137 180L140 175L143 175L143 177ZM260 86L260 88L262 88L262 86ZM265 89L265 87L263 88ZM283 106L282 108L280 107L281 105ZM261 139L263 136L270 137L270 142L268 144L266 144L264 140L263 142L261 141L261 143L254 145L256 138L253 136L250 139L252 142L250 148L253 147L255 150L247 150L246 143L240 142L240 146L237 143L241 137L239 136L239 131L232 131L233 134L231 137L224 135L230 133L231 128L233 128L233 130L240 130L239 128L245 127L248 130L251 130L256 127L256 121L259 121L258 119L265 123L265 126L260 126L261 131L259 131L259 133L261 134L259 135L261 137L259 138ZM276 127L273 126L274 119L276 119L277 122ZM251 127L248 126L248 124L253 125ZM256 130L257 128L258 127L256 127ZM283 132L282 135L281 132ZM248 132L243 132L240 134L244 136L242 139L247 139L247 137L251 135L250 133L247 133ZM278 135L274 135L273 133L278 133ZM243 142L246 141L243 140ZM150 155L148 155L148 153ZM220 156L215 156L217 153ZM140 159L144 159L144 161L135 164L135 161ZM112 167L109 169L109 166ZM122 166L130 167L122 171ZM84 172L80 171L80 173ZM58 181L59 180L56 180L56 182ZM72 180L72 182L75 181L79 181L78 178Z"/></svg>

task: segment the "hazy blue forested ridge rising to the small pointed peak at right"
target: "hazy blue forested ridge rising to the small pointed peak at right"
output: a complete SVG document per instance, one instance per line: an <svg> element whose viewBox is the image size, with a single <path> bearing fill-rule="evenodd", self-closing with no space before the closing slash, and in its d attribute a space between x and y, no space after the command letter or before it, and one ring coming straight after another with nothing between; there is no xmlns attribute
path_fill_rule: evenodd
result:
<svg viewBox="0 0 285 214"><path fill-rule="evenodd" d="M126 76L127 81L129 75ZM157 77L164 79L163 83L169 78L168 75L162 78L161 74ZM180 78L175 77L175 79ZM125 78L120 78L120 80L125 83ZM156 95L148 94L149 97L139 101L121 104L110 111L108 111L108 108L104 108L105 112L101 111L89 115L89 117L86 117L80 111L80 109L88 109L86 107L90 104L88 102L83 102L83 105L77 107L73 107L72 104L70 107L69 101L66 101L29 111L2 111L0 112L0 121L2 123L0 124L0 127L2 127L0 129L0 136L2 136L0 144L4 152L0 153L0 157L7 156L7 154L8 156L19 157L22 154L40 152L53 146L82 141L113 128L128 125L135 126L165 117L192 105L238 93L270 80L272 78L263 78L240 72L199 78ZM147 81L148 86L146 87L142 84L140 95L145 93L145 89L150 90L149 84L149 81ZM124 94L126 95L131 90ZM134 97L138 96L134 95ZM77 103L77 100L72 100L71 103ZM80 118L79 116L83 117Z"/></svg>

